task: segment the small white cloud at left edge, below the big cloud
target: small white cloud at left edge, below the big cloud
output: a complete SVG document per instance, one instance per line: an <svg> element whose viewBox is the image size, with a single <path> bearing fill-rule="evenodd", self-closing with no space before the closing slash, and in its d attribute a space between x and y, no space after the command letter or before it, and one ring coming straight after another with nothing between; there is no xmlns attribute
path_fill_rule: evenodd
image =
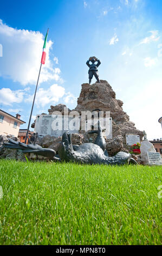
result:
<svg viewBox="0 0 162 256"><path fill-rule="evenodd" d="M20 103L23 100L23 90L0 89L0 103L11 106L12 103Z"/></svg>

